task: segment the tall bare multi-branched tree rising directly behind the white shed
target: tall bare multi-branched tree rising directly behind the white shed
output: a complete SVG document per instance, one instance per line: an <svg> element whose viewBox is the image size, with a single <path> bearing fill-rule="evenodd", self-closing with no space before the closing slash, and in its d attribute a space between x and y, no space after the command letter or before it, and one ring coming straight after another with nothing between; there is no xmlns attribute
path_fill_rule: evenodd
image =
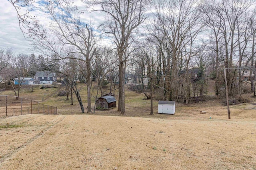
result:
<svg viewBox="0 0 256 170"><path fill-rule="evenodd" d="M199 6L200 2L196 0L156 0L154 3L154 15L159 24L157 27L165 39L162 42L166 42L165 47L168 49L165 71L170 100L176 96L178 63L182 60L183 48L194 41L202 28Z"/></svg>

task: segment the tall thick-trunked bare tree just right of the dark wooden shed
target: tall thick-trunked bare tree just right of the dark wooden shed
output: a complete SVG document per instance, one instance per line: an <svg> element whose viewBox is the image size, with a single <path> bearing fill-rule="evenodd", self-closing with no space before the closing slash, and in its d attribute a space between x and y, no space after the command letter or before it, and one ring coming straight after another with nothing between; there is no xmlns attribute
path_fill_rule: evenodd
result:
<svg viewBox="0 0 256 170"><path fill-rule="evenodd" d="M100 7L92 11L100 11L106 14L106 21L102 28L114 40L119 58L119 96L118 111L125 113L124 102L124 76L125 51L131 44L130 37L137 31L138 26L144 22L144 0L92 0L86 1L90 7Z"/></svg>

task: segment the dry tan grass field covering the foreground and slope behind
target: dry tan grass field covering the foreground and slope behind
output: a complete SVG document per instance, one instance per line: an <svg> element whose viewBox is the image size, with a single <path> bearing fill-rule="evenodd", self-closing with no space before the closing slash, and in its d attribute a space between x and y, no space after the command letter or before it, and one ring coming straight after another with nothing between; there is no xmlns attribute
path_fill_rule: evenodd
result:
<svg viewBox="0 0 256 170"><path fill-rule="evenodd" d="M44 97L42 103L58 106L59 115L0 119L0 170L256 169L253 104L231 106L228 119L222 99L177 103L174 115L158 114L154 101L149 115L144 94L126 90L126 115L117 108L81 114L77 102L71 106L57 96L60 90L21 93L38 101Z"/></svg>

